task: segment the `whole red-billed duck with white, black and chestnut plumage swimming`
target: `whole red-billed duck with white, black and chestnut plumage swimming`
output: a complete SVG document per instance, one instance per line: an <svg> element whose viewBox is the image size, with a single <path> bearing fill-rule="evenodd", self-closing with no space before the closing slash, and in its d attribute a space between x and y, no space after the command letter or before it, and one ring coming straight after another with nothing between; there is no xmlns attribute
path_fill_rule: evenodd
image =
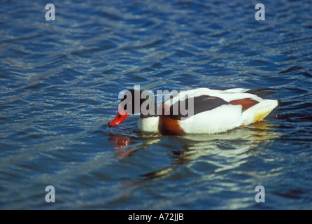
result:
<svg viewBox="0 0 312 224"><path fill-rule="evenodd" d="M271 93L268 89L213 90L201 87L171 94L157 106L153 92L131 89L125 91L118 115L108 126L120 125L129 115L141 113L140 132L218 134L264 120L278 106L278 100L264 99ZM183 105L188 109L186 114ZM144 106L149 113L143 110ZM175 108L178 109L175 111Z"/></svg>

